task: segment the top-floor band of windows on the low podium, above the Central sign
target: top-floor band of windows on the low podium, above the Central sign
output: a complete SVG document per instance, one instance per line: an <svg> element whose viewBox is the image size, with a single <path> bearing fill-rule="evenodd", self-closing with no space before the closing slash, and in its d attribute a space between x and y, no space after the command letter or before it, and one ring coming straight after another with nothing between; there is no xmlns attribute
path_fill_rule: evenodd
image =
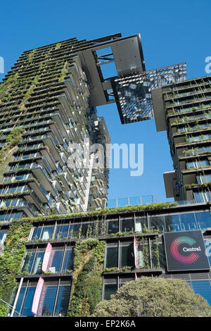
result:
<svg viewBox="0 0 211 331"><path fill-rule="evenodd" d="M201 194L201 192L199 192ZM206 230L211 227L209 211L195 211L192 213L174 213L155 216L135 216L130 218L116 218L106 220L106 227L99 221L81 223L58 223L34 227L30 239L36 240L59 240L70 238L98 237L99 235L111 235L117 232L158 232Z"/></svg>

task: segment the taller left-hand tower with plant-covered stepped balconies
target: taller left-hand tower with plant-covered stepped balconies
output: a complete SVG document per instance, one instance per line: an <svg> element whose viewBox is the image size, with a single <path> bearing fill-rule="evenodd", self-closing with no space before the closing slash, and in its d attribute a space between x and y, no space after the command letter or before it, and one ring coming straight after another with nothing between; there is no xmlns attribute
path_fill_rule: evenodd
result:
<svg viewBox="0 0 211 331"><path fill-rule="evenodd" d="M77 56L90 44L70 39L25 51L1 83L2 221L106 204L108 169L84 156L84 141L87 149L110 142ZM87 164L68 166L74 152Z"/></svg>

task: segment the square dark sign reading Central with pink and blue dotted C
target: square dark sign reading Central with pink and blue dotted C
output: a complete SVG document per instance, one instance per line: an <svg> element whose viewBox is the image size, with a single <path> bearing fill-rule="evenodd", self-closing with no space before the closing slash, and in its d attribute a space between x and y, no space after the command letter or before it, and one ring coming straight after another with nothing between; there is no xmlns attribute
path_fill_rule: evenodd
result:
<svg viewBox="0 0 211 331"><path fill-rule="evenodd" d="M168 271L210 269L200 230L165 232L164 242Z"/></svg>

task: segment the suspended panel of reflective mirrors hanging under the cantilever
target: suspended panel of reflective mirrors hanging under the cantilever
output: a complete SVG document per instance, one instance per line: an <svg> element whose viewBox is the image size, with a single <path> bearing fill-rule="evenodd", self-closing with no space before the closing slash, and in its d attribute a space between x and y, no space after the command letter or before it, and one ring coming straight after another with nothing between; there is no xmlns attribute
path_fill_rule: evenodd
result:
<svg viewBox="0 0 211 331"><path fill-rule="evenodd" d="M186 80L186 63L113 77L111 85L122 124L154 118L151 91Z"/></svg>

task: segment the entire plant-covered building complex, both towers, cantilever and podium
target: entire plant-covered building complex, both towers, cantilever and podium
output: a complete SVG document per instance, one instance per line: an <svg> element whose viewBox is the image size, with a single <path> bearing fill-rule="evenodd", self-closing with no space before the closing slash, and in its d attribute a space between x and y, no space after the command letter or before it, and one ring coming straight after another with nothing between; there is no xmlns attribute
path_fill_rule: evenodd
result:
<svg viewBox="0 0 211 331"><path fill-rule="evenodd" d="M185 63L146 71L140 35L20 56L0 85L2 316L90 316L141 275L182 278L211 304L209 87L186 80ZM110 137L96 106L110 103L122 124L155 117L167 130L178 203L105 208Z"/></svg>

